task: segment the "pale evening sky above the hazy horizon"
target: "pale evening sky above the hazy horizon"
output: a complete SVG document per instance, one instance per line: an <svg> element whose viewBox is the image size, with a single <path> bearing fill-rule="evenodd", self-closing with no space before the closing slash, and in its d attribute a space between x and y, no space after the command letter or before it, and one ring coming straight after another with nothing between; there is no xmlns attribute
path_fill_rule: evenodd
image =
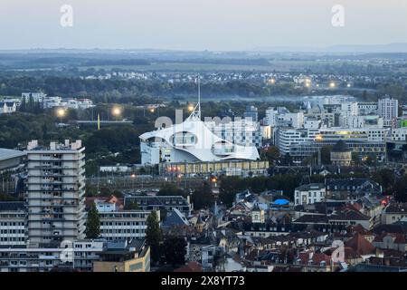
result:
<svg viewBox="0 0 407 290"><path fill-rule="evenodd" d="M73 26L62 27L62 5ZM345 27L331 8L345 7ZM0 49L250 50L407 42L405 0L2 0Z"/></svg>

